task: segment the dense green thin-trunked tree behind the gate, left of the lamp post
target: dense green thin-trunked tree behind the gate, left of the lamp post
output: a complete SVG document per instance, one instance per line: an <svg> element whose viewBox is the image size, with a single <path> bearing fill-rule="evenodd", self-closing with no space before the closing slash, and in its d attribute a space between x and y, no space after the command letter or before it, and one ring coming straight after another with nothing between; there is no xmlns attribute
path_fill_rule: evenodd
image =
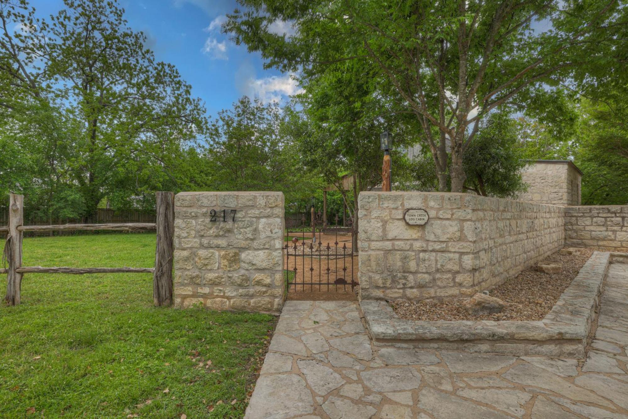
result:
<svg viewBox="0 0 628 419"><path fill-rule="evenodd" d="M404 115L381 115L385 108L374 83L363 83L369 68L358 62L330 66L325 73L311 77L306 93L296 97L302 112L290 113L290 132L299 146L303 164L320 173L325 184L341 194L358 231L358 194L382 182L382 151L379 135L393 131L395 182L406 174L404 144L417 141L416 134L404 130ZM345 190L349 176L352 189ZM353 236L357 248L357 234Z"/></svg>

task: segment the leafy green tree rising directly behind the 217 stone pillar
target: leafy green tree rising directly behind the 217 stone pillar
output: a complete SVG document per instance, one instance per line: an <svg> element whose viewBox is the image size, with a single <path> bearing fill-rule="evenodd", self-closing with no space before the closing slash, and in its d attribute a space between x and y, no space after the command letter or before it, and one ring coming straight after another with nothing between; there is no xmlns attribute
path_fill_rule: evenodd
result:
<svg viewBox="0 0 628 419"><path fill-rule="evenodd" d="M277 103L244 96L222 110L205 145L215 191L283 191L286 199L310 197L318 186L300 164L296 146L283 132Z"/></svg>

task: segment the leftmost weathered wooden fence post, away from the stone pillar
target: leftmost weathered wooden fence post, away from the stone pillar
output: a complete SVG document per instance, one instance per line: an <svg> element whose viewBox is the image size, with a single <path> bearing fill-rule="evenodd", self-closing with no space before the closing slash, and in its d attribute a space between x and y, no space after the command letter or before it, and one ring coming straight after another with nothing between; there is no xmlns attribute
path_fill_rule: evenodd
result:
<svg viewBox="0 0 628 419"><path fill-rule="evenodd" d="M22 266L22 235L18 226L24 223L24 196L11 194L9 196L9 233L4 245L4 257L9 262L9 272L6 281L6 297L8 305L19 304L19 291L22 274L17 271Z"/></svg>

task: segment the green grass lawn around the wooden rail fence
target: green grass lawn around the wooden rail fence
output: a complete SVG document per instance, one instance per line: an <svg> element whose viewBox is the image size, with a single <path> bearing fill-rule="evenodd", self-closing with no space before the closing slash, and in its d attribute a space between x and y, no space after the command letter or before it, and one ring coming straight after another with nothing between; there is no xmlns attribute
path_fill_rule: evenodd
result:
<svg viewBox="0 0 628 419"><path fill-rule="evenodd" d="M154 248L154 234L25 238L23 263L153 267ZM153 307L148 273L26 273L21 300L0 304L0 417L242 417L274 326Z"/></svg>

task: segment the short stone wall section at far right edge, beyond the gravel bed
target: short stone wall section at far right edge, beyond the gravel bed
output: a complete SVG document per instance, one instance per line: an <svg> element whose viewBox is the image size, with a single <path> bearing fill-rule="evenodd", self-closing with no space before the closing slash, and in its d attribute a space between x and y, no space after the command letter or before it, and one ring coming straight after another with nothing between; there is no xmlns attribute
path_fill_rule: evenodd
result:
<svg viewBox="0 0 628 419"><path fill-rule="evenodd" d="M628 205L565 208L565 244L628 247Z"/></svg>

